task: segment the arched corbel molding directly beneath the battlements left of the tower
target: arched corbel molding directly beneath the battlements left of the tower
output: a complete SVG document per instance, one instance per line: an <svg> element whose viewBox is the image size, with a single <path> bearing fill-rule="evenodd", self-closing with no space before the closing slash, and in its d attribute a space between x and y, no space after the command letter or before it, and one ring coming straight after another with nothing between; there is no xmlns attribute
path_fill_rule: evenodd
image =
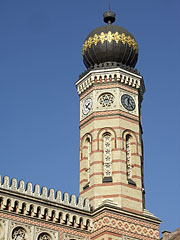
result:
<svg viewBox="0 0 180 240"><path fill-rule="evenodd" d="M34 204L28 201L19 201L16 199L1 196L0 211L12 213L18 217L28 217L46 221L49 223L60 224L63 226L82 229L91 232L93 222L91 216L76 213L72 210L59 209L58 207L44 206L43 204ZM18 206L18 207L17 207ZM18 223L16 223L18 224ZM18 224L19 226L19 224Z"/></svg>

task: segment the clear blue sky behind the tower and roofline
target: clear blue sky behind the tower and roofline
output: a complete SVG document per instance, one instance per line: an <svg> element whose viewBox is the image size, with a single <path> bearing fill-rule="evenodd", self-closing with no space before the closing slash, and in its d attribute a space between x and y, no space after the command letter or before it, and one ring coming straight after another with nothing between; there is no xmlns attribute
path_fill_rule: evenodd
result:
<svg viewBox="0 0 180 240"><path fill-rule="evenodd" d="M146 208L180 226L179 0L111 1L116 24L139 45ZM0 1L0 173L79 189L82 45L103 24L107 0Z"/></svg>

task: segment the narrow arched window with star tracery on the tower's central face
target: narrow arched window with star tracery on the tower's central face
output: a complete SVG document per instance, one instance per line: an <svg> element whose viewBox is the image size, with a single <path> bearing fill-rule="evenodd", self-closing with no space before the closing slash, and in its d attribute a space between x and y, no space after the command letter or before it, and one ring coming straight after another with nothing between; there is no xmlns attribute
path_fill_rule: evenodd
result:
<svg viewBox="0 0 180 240"><path fill-rule="evenodd" d="M104 178L103 182L112 182L112 151L111 151L111 134L103 135L104 141Z"/></svg>

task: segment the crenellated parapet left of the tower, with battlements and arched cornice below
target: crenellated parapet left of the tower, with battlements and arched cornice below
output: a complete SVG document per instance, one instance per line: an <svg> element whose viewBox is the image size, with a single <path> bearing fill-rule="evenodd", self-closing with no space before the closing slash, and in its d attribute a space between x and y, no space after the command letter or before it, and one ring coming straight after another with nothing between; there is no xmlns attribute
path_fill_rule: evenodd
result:
<svg viewBox="0 0 180 240"><path fill-rule="evenodd" d="M54 189L3 177L0 181L0 211L27 216L76 229L91 231L89 199L69 197Z"/></svg>

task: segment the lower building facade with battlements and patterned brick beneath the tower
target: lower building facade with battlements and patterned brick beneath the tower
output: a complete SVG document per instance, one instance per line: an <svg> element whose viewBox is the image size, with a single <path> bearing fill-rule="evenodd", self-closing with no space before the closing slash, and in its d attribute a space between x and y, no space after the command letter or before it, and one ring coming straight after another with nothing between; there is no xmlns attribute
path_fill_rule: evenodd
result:
<svg viewBox="0 0 180 240"><path fill-rule="evenodd" d="M0 185L0 240L159 239L160 220L110 200L93 210L88 199L4 177Z"/></svg>

